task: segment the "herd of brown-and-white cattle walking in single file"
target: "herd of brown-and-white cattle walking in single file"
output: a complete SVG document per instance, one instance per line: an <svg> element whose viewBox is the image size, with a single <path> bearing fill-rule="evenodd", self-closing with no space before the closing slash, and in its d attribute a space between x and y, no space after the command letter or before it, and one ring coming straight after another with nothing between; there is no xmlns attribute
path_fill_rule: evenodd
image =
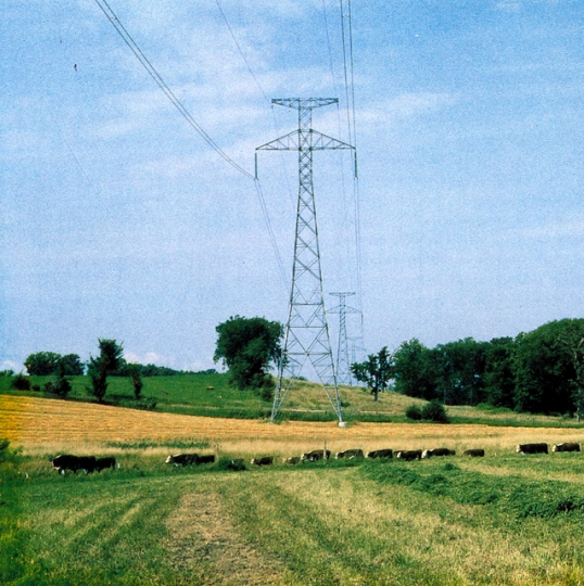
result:
<svg viewBox="0 0 584 586"><path fill-rule="evenodd" d="M516 451L518 454L548 454L547 444L519 444ZM580 444L564 443L556 444L551 448L551 451L580 451ZM395 458L402 460L419 460L422 458L433 458L439 456L456 456L454 449L448 448L435 448L435 449L376 449L369 451L367 458ZM462 456L471 458L480 458L484 456L484 449L473 448L466 449ZM328 460L331 457L330 449L315 449L303 454L302 456L294 456L292 458L284 458L283 463L296 464L299 462L316 462L319 460ZM339 451L335 458L341 459L361 459L365 458L363 449L347 449L345 451ZM192 466L204 464L215 462L215 456L213 454L199 455L199 454L175 454L166 458L167 464L174 466ZM51 460L53 468L61 474L65 474L66 470L71 470L76 473L78 470L82 470L86 474L90 472L101 472L107 468L116 468L116 460L113 456L106 458L96 458L94 456L71 456L62 455L56 456ZM264 456L262 458L253 458L251 460L252 466L271 466L274 463L274 456ZM119 468L119 463L117 464ZM233 470L241 470L244 468L243 459L233 459L228 462L227 468Z"/></svg>

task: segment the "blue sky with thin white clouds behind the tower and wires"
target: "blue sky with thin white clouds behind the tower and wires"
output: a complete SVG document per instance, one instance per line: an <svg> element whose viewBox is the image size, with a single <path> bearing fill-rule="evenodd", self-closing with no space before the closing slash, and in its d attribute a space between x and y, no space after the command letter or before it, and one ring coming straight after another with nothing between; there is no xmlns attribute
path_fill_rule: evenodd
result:
<svg viewBox="0 0 584 586"><path fill-rule="evenodd" d="M220 321L284 321L294 153L259 155L284 278L253 181L94 1L0 5L0 369L113 337L199 370ZM314 127L348 141L338 0L110 5L247 171L296 125L271 98L338 97ZM351 157L317 153L315 190L327 303L358 265L367 352L582 317L583 21L575 0L353 0L360 264Z"/></svg>

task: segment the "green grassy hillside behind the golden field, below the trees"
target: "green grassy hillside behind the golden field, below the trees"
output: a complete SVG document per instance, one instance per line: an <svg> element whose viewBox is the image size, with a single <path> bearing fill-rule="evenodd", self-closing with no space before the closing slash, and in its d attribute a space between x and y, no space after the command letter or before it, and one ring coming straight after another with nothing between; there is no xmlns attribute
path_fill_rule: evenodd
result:
<svg viewBox="0 0 584 586"><path fill-rule="evenodd" d="M49 377L30 377L33 385L42 388ZM144 378L143 400L136 402L131 383L126 378L111 377L106 395L109 405L142 408L155 402L154 411L203 417L238 419L266 419L271 412L271 403L251 392L242 392L227 383L226 374L150 377ZM89 379L75 377L72 402L94 402L88 391ZM50 398L42 391L18 392L10 387L11 379L0 377L0 395L35 396ZM348 422L406 422L405 410L412 404L426 402L393 392L381 393L374 403L369 393L360 387L342 386L343 416ZM152 410L152 409L150 409ZM493 409L486 406L448 406L448 416L455 423L484 423L504 426L556 426L584 429L584 423L564 417L516 413L509 409ZM328 398L317 384L305 382L291 392L282 409L283 419L304 421L331 421L335 416Z"/></svg>

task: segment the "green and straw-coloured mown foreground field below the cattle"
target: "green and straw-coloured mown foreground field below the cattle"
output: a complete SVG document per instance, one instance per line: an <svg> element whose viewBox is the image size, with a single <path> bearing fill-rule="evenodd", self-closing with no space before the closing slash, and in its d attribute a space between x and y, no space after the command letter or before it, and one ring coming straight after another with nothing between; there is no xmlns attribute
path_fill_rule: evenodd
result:
<svg viewBox="0 0 584 586"><path fill-rule="evenodd" d="M144 454L119 470L60 476L21 456L2 469L2 494L18 498L0 517L0 582L582 584L581 458L230 472Z"/></svg>

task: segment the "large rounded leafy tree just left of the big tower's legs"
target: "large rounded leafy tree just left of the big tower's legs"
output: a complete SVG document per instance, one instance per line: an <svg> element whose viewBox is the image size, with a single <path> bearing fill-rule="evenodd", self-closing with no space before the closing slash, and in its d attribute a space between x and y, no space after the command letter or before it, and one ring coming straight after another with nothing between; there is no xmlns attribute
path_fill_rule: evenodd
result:
<svg viewBox="0 0 584 586"><path fill-rule="evenodd" d="M274 380L269 369L282 358L283 326L261 317L234 316L215 330L218 336L213 359L227 366L230 383L240 390L258 390L264 398L270 398Z"/></svg>

